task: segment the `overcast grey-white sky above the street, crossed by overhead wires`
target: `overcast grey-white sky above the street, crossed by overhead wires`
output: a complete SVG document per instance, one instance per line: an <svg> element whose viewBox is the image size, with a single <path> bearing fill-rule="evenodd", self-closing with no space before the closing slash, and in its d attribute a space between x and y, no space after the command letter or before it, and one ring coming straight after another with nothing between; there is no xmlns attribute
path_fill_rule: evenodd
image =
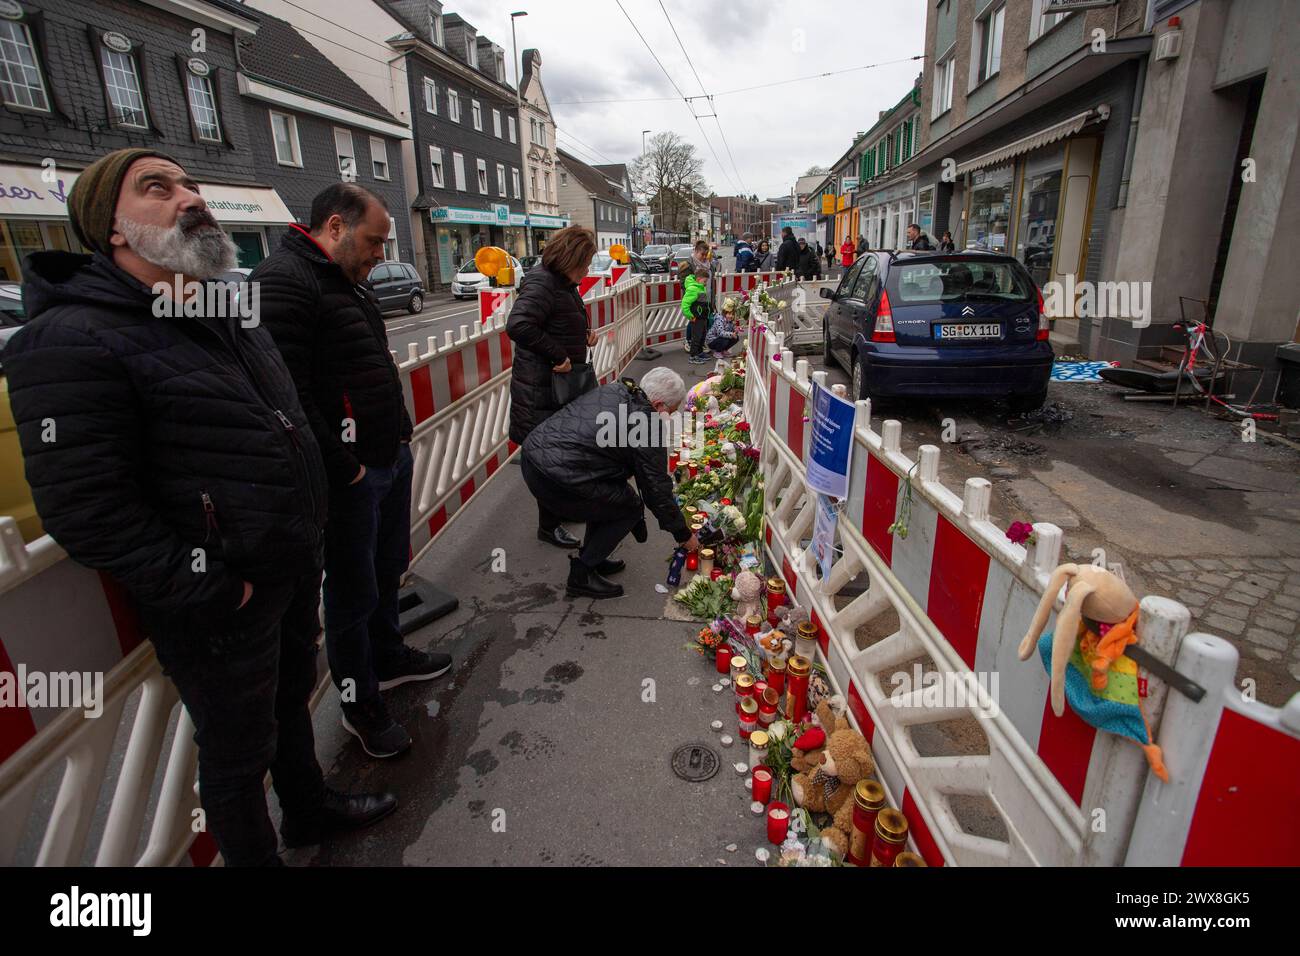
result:
<svg viewBox="0 0 1300 956"><path fill-rule="evenodd" d="M916 56L924 52L928 3L663 0L660 9L659 0L623 0L623 7L681 92L693 96L701 81L705 91L719 94ZM922 66L920 60L894 62L715 96L733 168L718 121L692 118L615 0L451 0L443 10L459 13L481 36L499 43L507 59L510 13L528 10L516 23L520 56L529 47L542 55L542 85L567 152L588 163L627 163L641 153L641 130L673 130L696 144L705 178L719 195L788 194L810 165L829 165L844 155L857 131L870 129L881 109L911 88ZM660 96L671 99L625 101ZM694 108L714 112L705 100Z"/></svg>

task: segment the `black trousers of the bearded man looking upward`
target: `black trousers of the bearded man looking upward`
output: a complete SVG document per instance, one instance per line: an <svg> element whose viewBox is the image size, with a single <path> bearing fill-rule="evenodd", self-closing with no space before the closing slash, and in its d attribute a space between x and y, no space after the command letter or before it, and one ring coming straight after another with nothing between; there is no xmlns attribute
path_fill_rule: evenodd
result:
<svg viewBox="0 0 1300 956"><path fill-rule="evenodd" d="M150 627L199 745L199 801L228 866L276 864L266 771L286 814L311 816L325 792L312 715L320 571L259 584L211 632Z"/></svg>

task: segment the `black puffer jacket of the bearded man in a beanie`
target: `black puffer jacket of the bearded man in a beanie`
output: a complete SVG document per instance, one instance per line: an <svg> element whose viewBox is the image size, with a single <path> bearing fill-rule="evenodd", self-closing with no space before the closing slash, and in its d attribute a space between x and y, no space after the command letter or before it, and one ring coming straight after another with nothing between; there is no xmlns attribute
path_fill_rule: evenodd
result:
<svg viewBox="0 0 1300 956"><path fill-rule="evenodd" d="M192 620L320 567L320 451L265 329L156 317L99 254L35 252L23 273L4 371L36 510L74 561Z"/></svg>

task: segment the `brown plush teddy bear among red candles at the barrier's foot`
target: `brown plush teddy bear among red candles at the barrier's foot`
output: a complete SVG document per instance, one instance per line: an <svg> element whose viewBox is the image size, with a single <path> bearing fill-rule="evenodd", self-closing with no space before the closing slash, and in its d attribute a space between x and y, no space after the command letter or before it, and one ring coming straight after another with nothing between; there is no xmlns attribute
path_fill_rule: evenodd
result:
<svg viewBox="0 0 1300 956"><path fill-rule="evenodd" d="M848 717L836 717L827 701L818 705L816 717L820 732L826 734L824 744L793 749L790 766L800 773L790 780L790 791L794 803L810 813L831 814L833 822L822 830L822 838L842 857L853 832L853 788L858 780L871 777L876 765L871 747L853 730ZM796 743L815 741L814 731L807 731Z"/></svg>

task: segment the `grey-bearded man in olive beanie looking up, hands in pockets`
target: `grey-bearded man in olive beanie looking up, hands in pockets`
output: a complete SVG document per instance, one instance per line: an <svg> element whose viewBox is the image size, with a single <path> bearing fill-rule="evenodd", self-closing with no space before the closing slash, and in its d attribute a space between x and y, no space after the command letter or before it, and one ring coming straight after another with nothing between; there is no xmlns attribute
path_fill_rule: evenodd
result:
<svg viewBox="0 0 1300 956"><path fill-rule="evenodd" d="M225 862L276 865L268 770L290 847L396 805L326 790L316 762L320 451L270 334L208 285L235 250L179 164L112 152L68 211L91 254L27 256L4 351L27 481L73 561L139 602Z"/></svg>

